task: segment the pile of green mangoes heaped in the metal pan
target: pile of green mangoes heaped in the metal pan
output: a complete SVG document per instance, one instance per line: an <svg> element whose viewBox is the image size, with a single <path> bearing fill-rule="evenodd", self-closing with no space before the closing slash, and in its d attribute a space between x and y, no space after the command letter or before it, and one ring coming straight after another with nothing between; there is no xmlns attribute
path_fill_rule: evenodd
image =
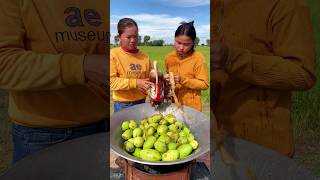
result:
<svg viewBox="0 0 320 180"><path fill-rule="evenodd" d="M154 114L121 124L123 148L147 161L176 161L189 156L199 146L194 135L173 114Z"/></svg>

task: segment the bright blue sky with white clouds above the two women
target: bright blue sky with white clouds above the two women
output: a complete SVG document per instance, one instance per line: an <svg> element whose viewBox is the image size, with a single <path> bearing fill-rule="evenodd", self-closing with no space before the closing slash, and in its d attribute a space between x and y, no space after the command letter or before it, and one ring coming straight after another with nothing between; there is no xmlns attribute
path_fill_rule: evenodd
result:
<svg viewBox="0 0 320 180"><path fill-rule="evenodd" d="M151 40L162 39L172 44L180 22L194 21L200 44L210 38L210 0L111 0L111 42L117 35L117 23L121 18L134 19L139 35L149 35Z"/></svg>

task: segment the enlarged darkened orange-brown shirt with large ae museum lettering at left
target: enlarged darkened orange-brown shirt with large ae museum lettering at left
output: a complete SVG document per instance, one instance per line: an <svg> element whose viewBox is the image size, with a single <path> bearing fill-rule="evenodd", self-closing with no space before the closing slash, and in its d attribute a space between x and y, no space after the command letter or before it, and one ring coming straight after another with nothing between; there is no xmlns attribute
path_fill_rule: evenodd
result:
<svg viewBox="0 0 320 180"><path fill-rule="evenodd" d="M0 88L9 116L30 127L73 127L108 116L85 86L85 54L106 54L106 1L0 0ZM85 11L86 10L86 11Z"/></svg>

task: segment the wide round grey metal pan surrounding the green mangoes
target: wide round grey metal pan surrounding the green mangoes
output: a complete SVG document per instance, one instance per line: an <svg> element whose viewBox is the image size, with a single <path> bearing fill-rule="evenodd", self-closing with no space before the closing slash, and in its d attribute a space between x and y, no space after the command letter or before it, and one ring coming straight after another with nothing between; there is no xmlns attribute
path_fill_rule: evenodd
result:
<svg viewBox="0 0 320 180"><path fill-rule="evenodd" d="M155 109L149 103L139 104L120 112L114 113L110 119L110 145L112 151L117 155L141 164L147 165L175 165L185 162L192 161L199 156L210 150L210 120L205 114L187 107L182 106L181 111L176 111L174 106L164 106L159 109ZM192 152L188 157L179 159L177 161L145 161L138 159L126 151L123 150L124 140L121 138L122 130L121 123L125 120L134 119L137 123L140 123L140 120L144 117L151 116L153 114L162 113L162 114L174 114L178 121L183 121L185 126L187 126L191 132L194 134L196 140L199 143L198 149Z"/></svg>

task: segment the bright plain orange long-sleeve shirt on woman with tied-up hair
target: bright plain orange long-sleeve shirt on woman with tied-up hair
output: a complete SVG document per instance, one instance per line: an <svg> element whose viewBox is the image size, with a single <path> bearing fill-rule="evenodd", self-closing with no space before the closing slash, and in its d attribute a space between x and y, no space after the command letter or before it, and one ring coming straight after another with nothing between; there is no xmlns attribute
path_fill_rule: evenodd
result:
<svg viewBox="0 0 320 180"><path fill-rule="evenodd" d="M176 89L179 102L201 111L201 90L209 87L208 67L203 55L195 51L190 56L180 59L173 51L166 56L165 65L167 72L181 77Z"/></svg>

